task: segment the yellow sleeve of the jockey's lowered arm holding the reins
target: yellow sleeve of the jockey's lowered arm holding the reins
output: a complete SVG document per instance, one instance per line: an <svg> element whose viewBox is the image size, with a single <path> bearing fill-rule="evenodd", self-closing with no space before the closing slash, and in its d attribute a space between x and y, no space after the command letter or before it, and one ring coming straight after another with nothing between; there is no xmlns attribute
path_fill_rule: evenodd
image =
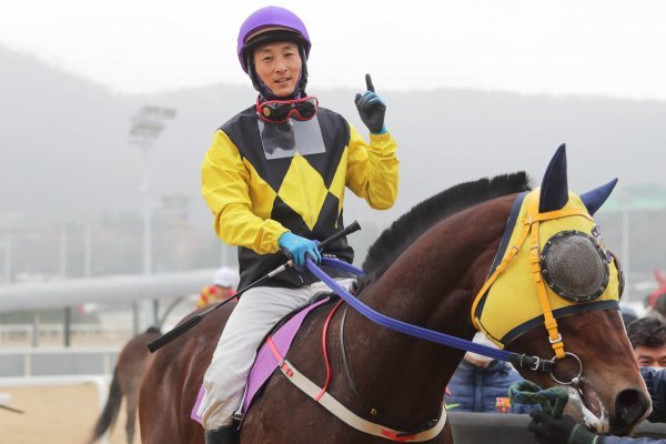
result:
<svg viewBox="0 0 666 444"><path fill-rule="evenodd" d="M280 250L278 240L289 230L252 212L249 183L249 167L235 144L219 130L201 167L201 192L215 215L215 232L231 245L259 254L275 253Z"/></svg>

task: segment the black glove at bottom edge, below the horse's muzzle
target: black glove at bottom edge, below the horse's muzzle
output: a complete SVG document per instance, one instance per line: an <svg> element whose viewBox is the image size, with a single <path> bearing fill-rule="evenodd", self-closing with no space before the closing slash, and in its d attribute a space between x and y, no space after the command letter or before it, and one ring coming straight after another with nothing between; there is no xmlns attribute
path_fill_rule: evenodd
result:
<svg viewBox="0 0 666 444"><path fill-rule="evenodd" d="M573 417L564 415L553 417L541 410L529 412L532 422L527 428L539 444L595 444L597 435L574 421Z"/></svg>

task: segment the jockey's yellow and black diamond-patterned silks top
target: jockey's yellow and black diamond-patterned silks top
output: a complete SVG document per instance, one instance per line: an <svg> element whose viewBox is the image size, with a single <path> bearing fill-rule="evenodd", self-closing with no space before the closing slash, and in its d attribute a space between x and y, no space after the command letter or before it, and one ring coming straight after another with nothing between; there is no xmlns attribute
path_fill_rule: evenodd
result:
<svg viewBox="0 0 666 444"><path fill-rule="evenodd" d="M278 240L286 231L312 240L342 231L345 188L374 209L395 202L400 162L393 138L371 134L366 144L340 114L320 108L317 119L323 153L266 159L254 107L236 114L214 135L202 165L202 194L215 215L220 239L239 246L240 287L284 262ZM325 253L353 261L345 239L332 243ZM341 273L325 271L332 276ZM264 284L296 287L311 278L287 270Z"/></svg>

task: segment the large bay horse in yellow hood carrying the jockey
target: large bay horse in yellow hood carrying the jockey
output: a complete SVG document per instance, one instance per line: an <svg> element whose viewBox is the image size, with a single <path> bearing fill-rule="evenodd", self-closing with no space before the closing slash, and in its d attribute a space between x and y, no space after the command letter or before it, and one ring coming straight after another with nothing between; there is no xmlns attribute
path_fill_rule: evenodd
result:
<svg viewBox="0 0 666 444"><path fill-rule="evenodd" d="M484 289L514 202L529 190L529 179L518 172L462 183L421 202L371 246L363 264L366 276L356 297L393 319L472 339L478 326L470 316L476 295ZM544 214L563 208L569 200L564 147L551 161L538 196ZM589 218L601 203L589 203ZM565 225L568 219L572 218L562 219ZM595 242L602 243L601 239ZM612 283L613 291L619 292L617 280ZM519 311L522 295L516 297L512 310ZM508 343L506 350L549 359L556 346L566 342L566 355L557 360L557 372L552 377L529 369L518 371L543 387L566 386L573 395L566 412L577 421L585 421L599 432L624 435L649 413L650 402L622 324L617 297L605 302L610 305L604 310L582 310L557 317L555 331L559 341L542 329L531 327ZM212 312L195 330L157 353L140 394L143 444L203 443L203 428L190 418L190 413L232 310L228 304ZM442 414L446 384L464 351L379 326L354 310L331 315L330 309L320 307L309 314L286 355L320 387L327 380L322 329L329 316L329 394L356 415L398 430L423 428ZM545 312L542 317L545 319ZM337 341L341 333L343 342ZM240 442L387 441L386 436L350 427L315 404L281 372L274 372L261 397L245 413ZM413 441L411 436L391 440ZM450 423L428 442L453 443Z"/></svg>

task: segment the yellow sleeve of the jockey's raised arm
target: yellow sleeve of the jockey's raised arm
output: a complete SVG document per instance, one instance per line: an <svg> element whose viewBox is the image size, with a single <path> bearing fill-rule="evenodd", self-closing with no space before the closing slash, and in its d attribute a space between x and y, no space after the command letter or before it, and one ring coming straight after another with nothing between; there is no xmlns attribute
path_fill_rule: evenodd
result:
<svg viewBox="0 0 666 444"><path fill-rule="evenodd" d="M373 209L390 209L397 199L400 161L395 140L389 132L371 133L366 144L351 124L350 133L346 185Z"/></svg>

